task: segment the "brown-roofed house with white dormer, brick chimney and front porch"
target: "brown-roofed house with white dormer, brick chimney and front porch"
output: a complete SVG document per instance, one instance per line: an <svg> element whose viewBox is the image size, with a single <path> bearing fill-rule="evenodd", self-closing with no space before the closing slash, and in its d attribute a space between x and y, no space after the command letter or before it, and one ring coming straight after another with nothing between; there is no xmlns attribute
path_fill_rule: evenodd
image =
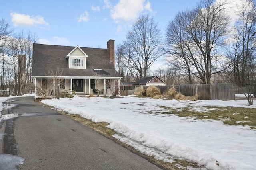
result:
<svg viewBox="0 0 256 170"><path fill-rule="evenodd" d="M33 45L32 77L36 87L56 89L77 95L111 94L108 84L116 83L120 92L122 76L115 70L114 40L107 42L106 49L70 47L60 45ZM61 82L60 82L61 81ZM118 85L117 85L118 83ZM56 88L56 86L58 88Z"/></svg>

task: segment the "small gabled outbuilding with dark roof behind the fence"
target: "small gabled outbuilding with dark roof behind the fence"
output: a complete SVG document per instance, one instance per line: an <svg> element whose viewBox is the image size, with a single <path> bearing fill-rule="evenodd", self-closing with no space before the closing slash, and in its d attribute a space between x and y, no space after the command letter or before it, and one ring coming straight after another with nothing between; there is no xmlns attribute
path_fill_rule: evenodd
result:
<svg viewBox="0 0 256 170"><path fill-rule="evenodd" d="M166 82L164 82L158 76L144 77L134 83L135 87L138 86L166 86Z"/></svg>

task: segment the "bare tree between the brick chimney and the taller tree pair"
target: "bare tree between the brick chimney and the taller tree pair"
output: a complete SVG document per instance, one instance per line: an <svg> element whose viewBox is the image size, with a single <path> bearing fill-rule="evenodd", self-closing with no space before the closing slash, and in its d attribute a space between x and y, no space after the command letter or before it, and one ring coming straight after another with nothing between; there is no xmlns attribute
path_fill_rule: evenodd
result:
<svg viewBox="0 0 256 170"><path fill-rule="evenodd" d="M150 66L161 56L160 43L158 23L148 15L140 16L124 42L126 64L130 65L134 76L143 78L148 75Z"/></svg>

